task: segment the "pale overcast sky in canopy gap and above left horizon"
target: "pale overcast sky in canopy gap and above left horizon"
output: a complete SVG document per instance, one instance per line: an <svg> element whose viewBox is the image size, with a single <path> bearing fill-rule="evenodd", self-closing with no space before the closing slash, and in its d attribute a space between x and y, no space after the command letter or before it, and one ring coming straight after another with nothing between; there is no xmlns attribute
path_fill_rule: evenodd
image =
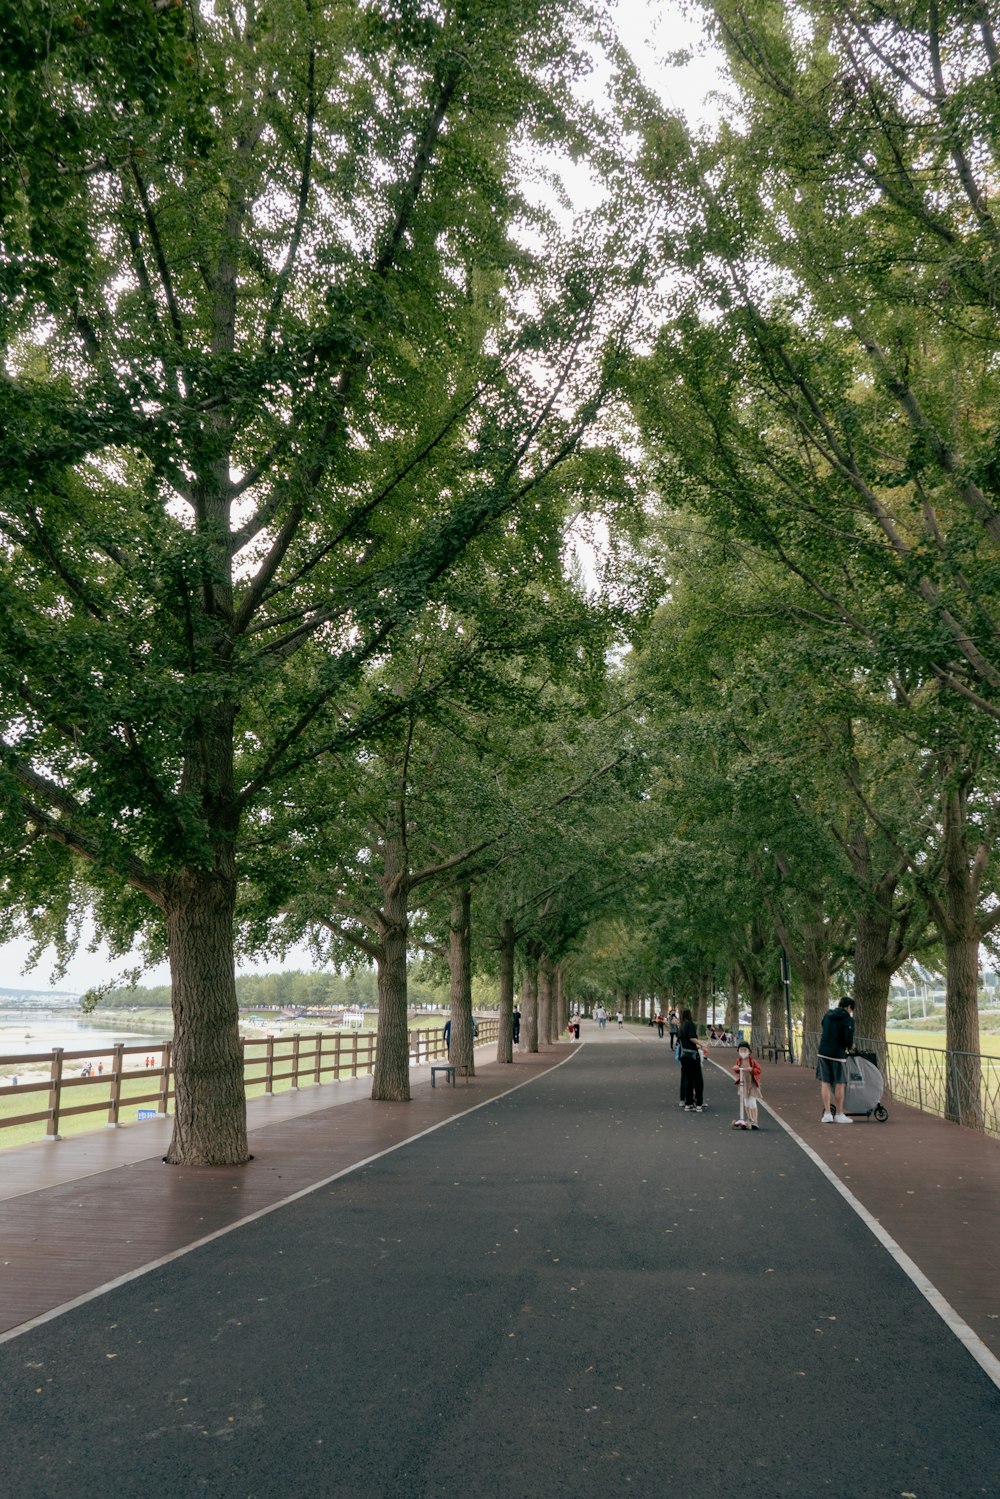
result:
<svg viewBox="0 0 1000 1499"><path fill-rule="evenodd" d="M706 94L718 87L717 64L709 57L693 57L682 67L664 63L670 52L685 48L697 49L700 31L696 19L684 16L672 0L613 0L618 28L625 45L639 63L646 82L658 91L670 108L682 109L693 120L714 114ZM49 952L34 970L27 970L28 944L7 943L0 946L0 988L48 989L54 955ZM127 962L112 964L105 952L90 953L81 949L70 962L66 976L54 985L57 989L82 992L91 985L106 983L127 968ZM244 965L241 971L274 971L279 964ZM310 968L312 961L304 949L291 953L286 968ZM166 965L151 968L142 983L166 983Z"/></svg>

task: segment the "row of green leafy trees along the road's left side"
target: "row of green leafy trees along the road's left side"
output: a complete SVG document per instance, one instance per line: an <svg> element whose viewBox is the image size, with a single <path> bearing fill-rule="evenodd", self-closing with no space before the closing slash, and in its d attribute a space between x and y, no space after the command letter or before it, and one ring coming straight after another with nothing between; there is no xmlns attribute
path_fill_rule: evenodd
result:
<svg viewBox="0 0 1000 1499"><path fill-rule="evenodd" d="M601 775L559 699L600 717L616 613L564 558L634 499L600 421L646 210L582 88L612 43L564 0L0 28L0 934L64 955L93 911L166 953L168 1160L237 1163L235 944L373 958L375 1096L406 1097L417 899L463 947L459 875L552 848ZM580 156L604 201L570 223Z"/></svg>

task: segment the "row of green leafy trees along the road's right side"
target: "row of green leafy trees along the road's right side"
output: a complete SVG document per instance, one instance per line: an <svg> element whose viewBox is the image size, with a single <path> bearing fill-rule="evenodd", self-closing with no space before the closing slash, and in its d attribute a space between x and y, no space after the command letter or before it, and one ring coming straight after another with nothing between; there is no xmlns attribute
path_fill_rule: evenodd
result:
<svg viewBox="0 0 1000 1499"><path fill-rule="evenodd" d="M807 1036L840 968L877 1045L891 976L936 955L967 1114L1000 926L993 18L706 16L729 118L648 130L672 277L634 411L670 601L634 673L670 896L645 941L688 983L732 970L759 1040L778 943Z"/></svg>

